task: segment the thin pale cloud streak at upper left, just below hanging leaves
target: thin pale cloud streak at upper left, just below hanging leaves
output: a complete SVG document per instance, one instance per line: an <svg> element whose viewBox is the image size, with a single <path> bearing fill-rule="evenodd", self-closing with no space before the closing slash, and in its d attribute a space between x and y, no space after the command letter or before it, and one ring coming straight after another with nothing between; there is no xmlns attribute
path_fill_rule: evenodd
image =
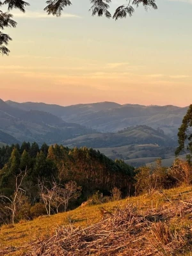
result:
<svg viewBox="0 0 192 256"><path fill-rule="evenodd" d="M55 18L53 15L47 15L46 12L31 12L31 11L26 11L26 13L22 12L13 12L13 17L17 18L29 18L29 19L52 19ZM70 19L70 18L81 18L80 16L73 14L73 13L62 13L61 14L61 19Z"/></svg>

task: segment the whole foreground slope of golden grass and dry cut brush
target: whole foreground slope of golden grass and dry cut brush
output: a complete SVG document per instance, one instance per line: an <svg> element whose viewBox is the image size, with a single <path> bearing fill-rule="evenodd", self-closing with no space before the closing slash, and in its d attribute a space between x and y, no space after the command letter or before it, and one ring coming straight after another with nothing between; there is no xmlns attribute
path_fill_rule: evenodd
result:
<svg viewBox="0 0 192 256"><path fill-rule="evenodd" d="M180 187L4 225L0 255L191 255L191 227L192 188Z"/></svg>

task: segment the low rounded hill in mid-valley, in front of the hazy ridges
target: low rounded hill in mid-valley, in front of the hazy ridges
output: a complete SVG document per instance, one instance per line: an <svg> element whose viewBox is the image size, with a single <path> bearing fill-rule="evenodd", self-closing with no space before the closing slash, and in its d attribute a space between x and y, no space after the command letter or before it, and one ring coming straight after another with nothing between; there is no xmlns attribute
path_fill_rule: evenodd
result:
<svg viewBox="0 0 192 256"><path fill-rule="evenodd" d="M157 131L147 125L128 127L116 133L100 133L79 136L77 138L63 141L68 147L122 147L125 145L157 144L161 146L174 147L175 141L166 136L162 131Z"/></svg>

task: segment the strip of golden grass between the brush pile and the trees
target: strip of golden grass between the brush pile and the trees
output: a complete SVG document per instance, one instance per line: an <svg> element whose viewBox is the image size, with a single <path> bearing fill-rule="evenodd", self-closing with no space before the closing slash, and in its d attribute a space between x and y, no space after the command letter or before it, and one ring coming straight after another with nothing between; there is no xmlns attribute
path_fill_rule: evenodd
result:
<svg viewBox="0 0 192 256"><path fill-rule="evenodd" d="M189 193L184 193L189 192ZM169 189L164 191L165 195L171 198L173 195L184 193L182 200L188 199L192 193L192 187L180 187L175 189ZM154 193L153 195L141 195L137 197L126 198L118 202L109 202L102 205L92 205L87 207L79 207L73 211L63 212L60 214L48 216L42 216L36 218L33 221L20 221L20 223L13 225L4 225L0 230L0 255L1 250L8 246L14 246L17 248L17 252L11 252L7 255L21 255L23 252L23 246L26 243L30 243L35 239L41 239L45 236L50 236L56 227L61 225L67 225L68 223L74 223L76 226L88 227L93 223L97 223L101 220L99 208L102 206L108 211L113 212L115 207L125 207L127 203L131 202L136 204L139 209L146 211L147 209L154 209L156 207L170 204L164 201L165 197ZM177 204L177 201L173 201L173 204ZM185 219L183 220L185 221ZM189 218L188 225L192 225L192 220ZM183 222L184 223L184 222ZM20 249L19 249L20 248ZM189 255L189 254L188 254Z"/></svg>

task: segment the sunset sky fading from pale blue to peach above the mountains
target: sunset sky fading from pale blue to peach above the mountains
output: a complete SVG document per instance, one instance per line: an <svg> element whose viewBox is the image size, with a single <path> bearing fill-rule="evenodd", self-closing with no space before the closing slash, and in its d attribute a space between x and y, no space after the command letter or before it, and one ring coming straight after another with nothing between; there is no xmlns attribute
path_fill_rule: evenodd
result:
<svg viewBox="0 0 192 256"><path fill-rule="evenodd" d="M68 106L120 104L188 106L192 102L192 0L156 0L132 17L92 17L88 0L71 0L60 18L45 1L14 10L17 28L0 56L0 98ZM122 0L111 0L111 12Z"/></svg>

